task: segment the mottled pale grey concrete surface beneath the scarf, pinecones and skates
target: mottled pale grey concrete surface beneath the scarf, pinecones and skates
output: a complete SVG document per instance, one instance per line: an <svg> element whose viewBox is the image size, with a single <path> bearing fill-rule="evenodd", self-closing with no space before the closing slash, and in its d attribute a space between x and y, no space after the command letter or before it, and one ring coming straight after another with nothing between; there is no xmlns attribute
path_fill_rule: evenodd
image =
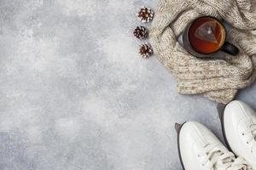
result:
<svg viewBox="0 0 256 170"><path fill-rule="evenodd" d="M181 169L174 122L221 138L132 31L146 0L0 0L0 169ZM143 25L148 26L149 25ZM256 86L238 95L256 105Z"/></svg>

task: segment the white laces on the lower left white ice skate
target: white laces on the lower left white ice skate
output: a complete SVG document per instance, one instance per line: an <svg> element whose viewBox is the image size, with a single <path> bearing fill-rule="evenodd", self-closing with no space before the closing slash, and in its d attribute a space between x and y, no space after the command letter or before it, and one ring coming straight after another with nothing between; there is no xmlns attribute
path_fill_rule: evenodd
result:
<svg viewBox="0 0 256 170"><path fill-rule="evenodd" d="M218 149L218 144L207 144L205 152L199 155L206 156L203 167L211 170L251 170L247 161L241 157L236 158L233 153L226 152Z"/></svg>

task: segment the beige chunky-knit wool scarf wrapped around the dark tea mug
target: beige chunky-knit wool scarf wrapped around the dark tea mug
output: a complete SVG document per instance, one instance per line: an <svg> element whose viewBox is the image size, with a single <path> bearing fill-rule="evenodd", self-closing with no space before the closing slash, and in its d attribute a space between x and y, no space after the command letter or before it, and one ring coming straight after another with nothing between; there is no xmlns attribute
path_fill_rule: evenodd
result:
<svg viewBox="0 0 256 170"><path fill-rule="evenodd" d="M199 59L177 42L190 21L201 15L226 20L228 41L240 54L224 59ZM160 62L177 77L180 94L203 94L227 104L238 89L256 78L256 2L254 0L159 0L151 25L150 42Z"/></svg>

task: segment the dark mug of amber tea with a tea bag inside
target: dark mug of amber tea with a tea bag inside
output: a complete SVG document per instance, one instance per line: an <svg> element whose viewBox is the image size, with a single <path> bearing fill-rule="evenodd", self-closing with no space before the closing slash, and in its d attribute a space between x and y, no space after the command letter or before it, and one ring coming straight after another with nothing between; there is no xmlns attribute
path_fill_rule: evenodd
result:
<svg viewBox="0 0 256 170"><path fill-rule="evenodd" d="M183 48L199 58L212 57L218 51L237 55L239 49L226 42L227 31L220 20L201 16L193 20L183 31Z"/></svg>

